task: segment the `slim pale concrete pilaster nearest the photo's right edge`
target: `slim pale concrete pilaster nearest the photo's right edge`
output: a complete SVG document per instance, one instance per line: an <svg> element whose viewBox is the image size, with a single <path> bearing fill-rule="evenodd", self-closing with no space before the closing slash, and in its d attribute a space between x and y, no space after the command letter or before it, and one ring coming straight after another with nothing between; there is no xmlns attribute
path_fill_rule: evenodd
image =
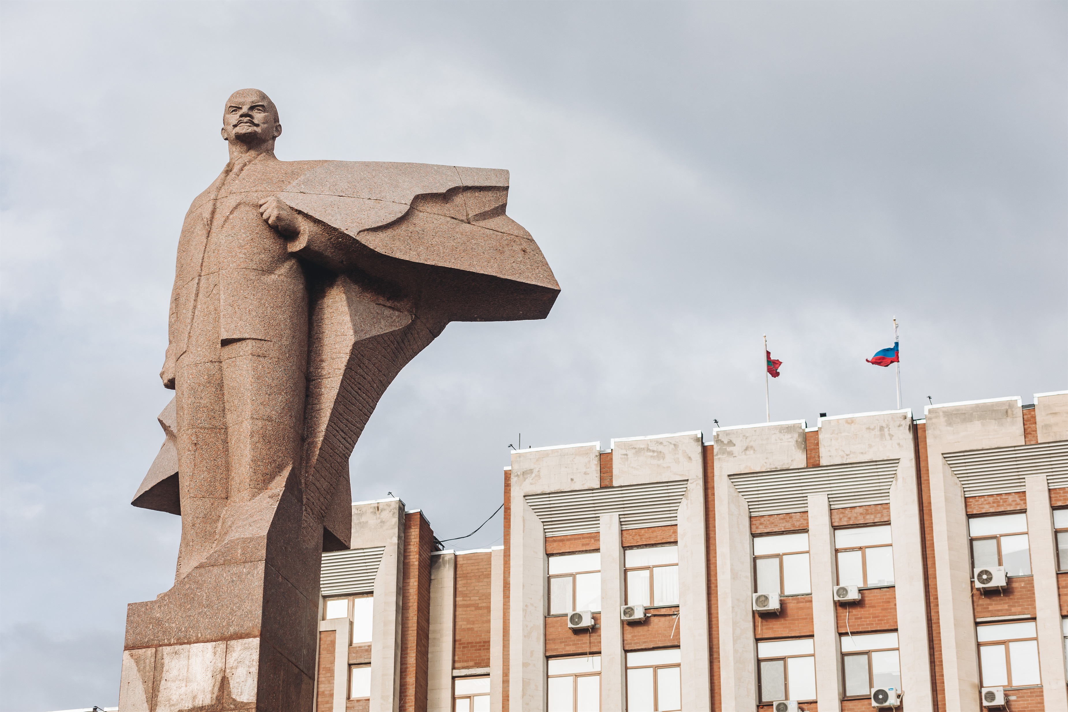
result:
<svg viewBox="0 0 1068 712"><path fill-rule="evenodd" d="M1065 684L1064 633L1057 594L1056 541L1046 475L1024 477L1027 488L1027 542L1035 585L1035 621L1038 628L1038 667L1041 670L1046 712L1068 712Z"/></svg>

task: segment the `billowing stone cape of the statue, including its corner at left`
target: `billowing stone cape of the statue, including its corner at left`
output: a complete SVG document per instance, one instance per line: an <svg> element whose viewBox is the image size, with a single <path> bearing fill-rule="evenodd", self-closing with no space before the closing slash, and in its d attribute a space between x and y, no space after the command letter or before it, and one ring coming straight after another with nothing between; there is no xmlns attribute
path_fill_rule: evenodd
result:
<svg viewBox="0 0 1068 712"><path fill-rule="evenodd" d="M288 246L310 265L304 510L337 550L351 537L348 458L400 368L449 321L544 319L560 286L505 215L507 171L300 163L279 197L324 226ZM180 515L173 399L158 420L166 440L132 504Z"/></svg>

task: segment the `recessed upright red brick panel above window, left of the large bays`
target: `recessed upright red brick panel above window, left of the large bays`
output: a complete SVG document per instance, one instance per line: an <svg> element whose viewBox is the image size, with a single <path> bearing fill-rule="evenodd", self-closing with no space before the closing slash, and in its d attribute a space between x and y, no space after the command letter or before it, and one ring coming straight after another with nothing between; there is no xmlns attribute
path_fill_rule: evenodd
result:
<svg viewBox="0 0 1068 712"><path fill-rule="evenodd" d="M489 667L489 596L492 554L456 556L453 668Z"/></svg>

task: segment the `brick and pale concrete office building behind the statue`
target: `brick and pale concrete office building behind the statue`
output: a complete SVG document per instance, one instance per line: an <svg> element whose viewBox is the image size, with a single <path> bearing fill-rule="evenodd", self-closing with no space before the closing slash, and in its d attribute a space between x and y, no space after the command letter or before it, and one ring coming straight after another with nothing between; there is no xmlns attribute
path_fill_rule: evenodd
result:
<svg viewBox="0 0 1068 712"><path fill-rule="evenodd" d="M323 555L317 712L1068 712L1068 391L513 452Z"/></svg>

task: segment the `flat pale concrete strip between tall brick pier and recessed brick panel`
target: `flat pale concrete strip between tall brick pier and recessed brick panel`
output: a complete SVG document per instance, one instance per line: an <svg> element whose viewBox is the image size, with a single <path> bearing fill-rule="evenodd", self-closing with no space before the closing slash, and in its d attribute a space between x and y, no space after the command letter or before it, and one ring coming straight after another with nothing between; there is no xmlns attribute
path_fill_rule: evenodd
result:
<svg viewBox="0 0 1068 712"><path fill-rule="evenodd" d="M430 630L427 646L427 712L453 709L453 640L456 611L456 554L430 555Z"/></svg>

